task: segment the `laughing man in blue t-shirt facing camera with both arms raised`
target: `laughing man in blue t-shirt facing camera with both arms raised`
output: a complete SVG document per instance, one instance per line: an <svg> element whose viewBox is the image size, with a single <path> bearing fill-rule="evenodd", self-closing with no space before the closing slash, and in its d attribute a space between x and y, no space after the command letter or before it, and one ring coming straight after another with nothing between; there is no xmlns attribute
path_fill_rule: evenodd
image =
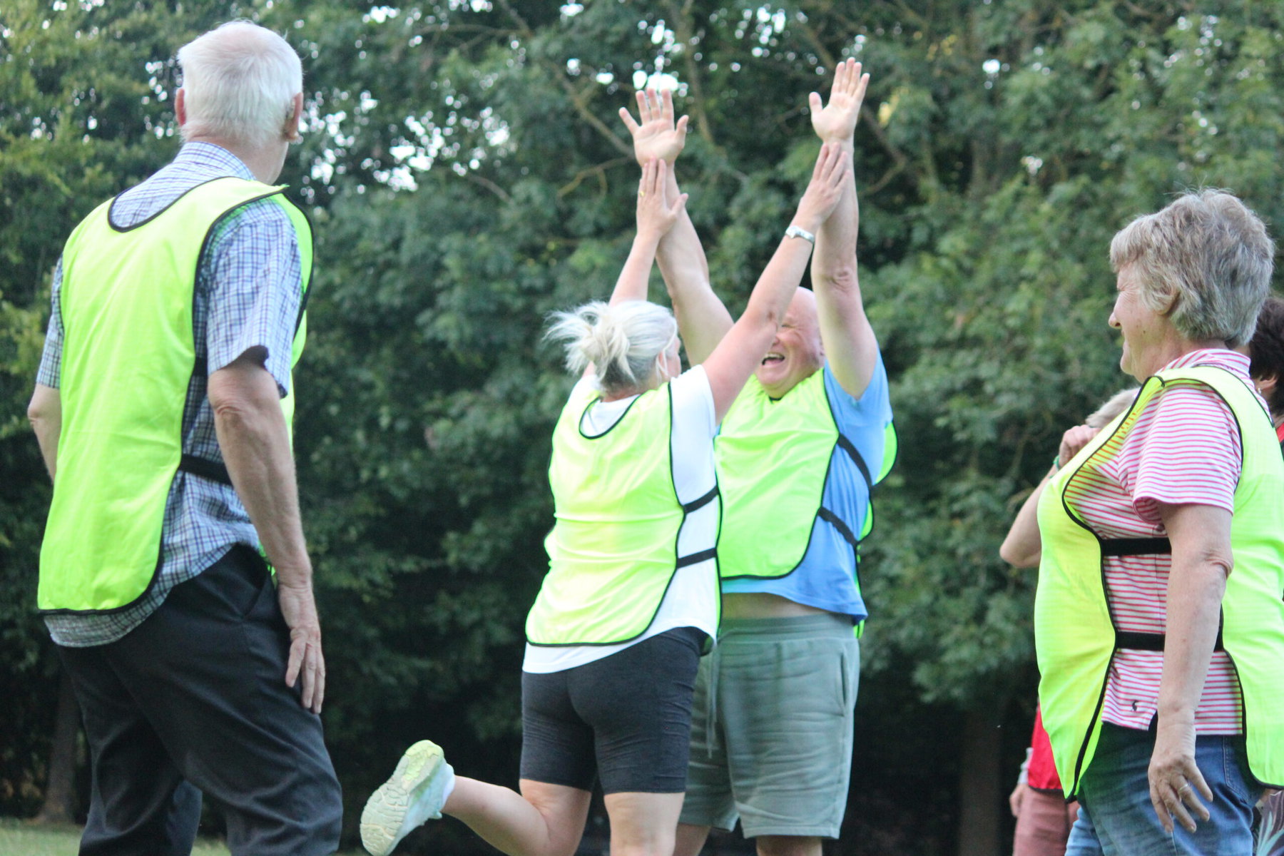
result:
<svg viewBox="0 0 1284 856"><path fill-rule="evenodd" d="M845 60L828 103L811 94L823 146L854 151L868 83ZM651 142L639 131L673 126L668 96L638 107L641 126L621 117L636 148ZM663 157L679 153L670 145ZM856 276L858 225L849 177L835 213L804 235L815 241L813 290L795 295L716 441L724 621L696 683L678 856L695 856L710 828L737 819L763 856L818 856L842 824L867 616L858 544L873 522L871 490L895 457L887 375ZM731 316L695 231L675 230L659 261L700 363Z"/></svg>

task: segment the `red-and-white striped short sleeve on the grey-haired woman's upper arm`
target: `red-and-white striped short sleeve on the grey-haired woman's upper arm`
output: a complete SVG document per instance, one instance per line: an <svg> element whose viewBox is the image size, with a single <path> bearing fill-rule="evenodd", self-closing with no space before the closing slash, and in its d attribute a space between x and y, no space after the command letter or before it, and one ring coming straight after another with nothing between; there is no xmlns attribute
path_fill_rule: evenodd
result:
<svg viewBox="0 0 1284 856"><path fill-rule="evenodd" d="M1177 381L1147 403L1113 475L1136 513L1158 525L1159 503L1233 512L1242 466L1239 426L1226 403L1203 384Z"/></svg>

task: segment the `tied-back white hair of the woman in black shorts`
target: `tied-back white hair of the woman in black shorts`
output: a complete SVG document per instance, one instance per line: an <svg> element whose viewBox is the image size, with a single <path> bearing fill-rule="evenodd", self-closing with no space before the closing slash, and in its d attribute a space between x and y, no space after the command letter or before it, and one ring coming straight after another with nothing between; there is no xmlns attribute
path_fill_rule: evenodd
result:
<svg viewBox="0 0 1284 856"><path fill-rule="evenodd" d="M566 368L580 373L592 363L603 393L628 393L668 380L660 357L678 336L673 313L646 300L610 305L601 300L555 312L546 339L566 349Z"/></svg>

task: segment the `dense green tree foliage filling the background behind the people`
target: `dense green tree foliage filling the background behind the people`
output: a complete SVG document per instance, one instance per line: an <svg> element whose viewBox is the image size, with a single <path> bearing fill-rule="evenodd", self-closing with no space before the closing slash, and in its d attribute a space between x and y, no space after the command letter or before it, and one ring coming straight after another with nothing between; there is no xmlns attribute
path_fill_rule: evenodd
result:
<svg viewBox="0 0 1284 856"><path fill-rule="evenodd" d="M1032 576L996 545L1061 431L1127 382L1106 326L1111 235L1193 186L1284 222L1278 4L9 0L0 661L5 733L22 737L0 747L8 810L39 791L55 689L31 613L46 479L22 431L49 273L78 217L172 157L173 50L232 17L304 58L308 128L282 176L317 231L295 448L327 734L354 801L422 735L514 779L568 389L541 331L607 294L624 259L636 167L615 110L648 78L692 117L679 178L738 308L817 150L806 94L844 56L873 76L860 276L901 457L865 549L862 710L890 746L924 739L892 705L1002 719L1004 699L1032 701ZM958 757L941 752L907 752L883 791L854 793L858 834L836 852L937 852L949 830L887 794L937 784ZM27 797L5 789L18 782ZM471 846L455 826L431 834Z"/></svg>

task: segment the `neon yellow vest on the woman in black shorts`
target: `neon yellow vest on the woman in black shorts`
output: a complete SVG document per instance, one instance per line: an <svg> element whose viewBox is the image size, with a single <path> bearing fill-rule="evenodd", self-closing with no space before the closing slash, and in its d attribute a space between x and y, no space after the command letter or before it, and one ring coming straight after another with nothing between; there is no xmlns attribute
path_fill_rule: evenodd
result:
<svg viewBox="0 0 1284 856"><path fill-rule="evenodd" d="M548 481L556 524L548 575L526 617L535 646L606 646L646 633L678 569L716 556L715 543L678 552L686 516L718 501L714 486L683 506L673 480L673 393L638 395L607 431L584 432L598 397L577 388L553 429ZM718 574L709 585L716 592ZM718 598L714 597L716 603Z"/></svg>

